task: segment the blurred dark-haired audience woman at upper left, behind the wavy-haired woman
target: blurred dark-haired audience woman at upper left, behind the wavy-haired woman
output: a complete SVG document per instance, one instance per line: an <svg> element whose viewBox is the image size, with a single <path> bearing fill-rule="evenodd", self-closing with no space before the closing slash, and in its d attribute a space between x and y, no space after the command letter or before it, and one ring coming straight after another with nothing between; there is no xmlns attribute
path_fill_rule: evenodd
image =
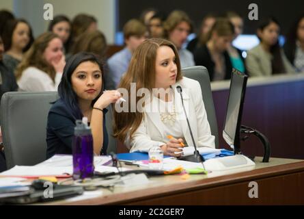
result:
<svg viewBox="0 0 304 219"><path fill-rule="evenodd" d="M33 34L29 23L23 19L7 21L3 27L2 40L5 49L3 62L14 72L23 60L25 51L33 43Z"/></svg>

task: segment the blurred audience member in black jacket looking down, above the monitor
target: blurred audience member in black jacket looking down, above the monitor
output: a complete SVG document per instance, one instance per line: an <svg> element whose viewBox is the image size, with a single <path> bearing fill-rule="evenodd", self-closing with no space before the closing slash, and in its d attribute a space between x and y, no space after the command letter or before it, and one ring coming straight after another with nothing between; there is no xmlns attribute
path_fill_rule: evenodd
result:
<svg viewBox="0 0 304 219"><path fill-rule="evenodd" d="M208 69L210 81L230 79L232 63L227 49L234 38L234 26L227 18L217 18L208 32L207 42L195 50L197 66Z"/></svg>

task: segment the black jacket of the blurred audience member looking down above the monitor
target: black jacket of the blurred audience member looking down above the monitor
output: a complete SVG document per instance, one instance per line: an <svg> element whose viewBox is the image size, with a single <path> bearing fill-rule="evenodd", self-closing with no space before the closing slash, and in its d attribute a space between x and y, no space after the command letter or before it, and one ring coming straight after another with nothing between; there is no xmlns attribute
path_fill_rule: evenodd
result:
<svg viewBox="0 0 304 219"><path fill-rule="evenodd" d="M230 61L229 54L227 51L223 53L225 58L225 79L231 78L232 64ZM213 80L213 75L215 73L215 62L213 62L209 49L206 44L199 47L194 52L194 61L196 66L205 66L208 69L210 81Z"/></svg>

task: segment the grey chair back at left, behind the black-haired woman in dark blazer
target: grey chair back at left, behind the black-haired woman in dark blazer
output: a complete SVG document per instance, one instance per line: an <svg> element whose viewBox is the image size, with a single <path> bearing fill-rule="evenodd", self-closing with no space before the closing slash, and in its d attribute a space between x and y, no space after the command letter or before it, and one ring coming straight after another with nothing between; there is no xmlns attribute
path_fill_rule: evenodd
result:
<svg viewBox="0 0 304 219"><path fill-rule="evenodd" d="M46 122L57 92L6 92L1 99L1 131L8 169L46 159Z"/></svg>

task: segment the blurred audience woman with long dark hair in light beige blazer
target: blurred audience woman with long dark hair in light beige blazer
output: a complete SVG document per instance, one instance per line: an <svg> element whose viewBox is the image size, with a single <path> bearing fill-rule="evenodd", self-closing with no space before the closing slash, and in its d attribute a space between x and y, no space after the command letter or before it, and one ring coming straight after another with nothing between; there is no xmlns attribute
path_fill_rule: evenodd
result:
<svg viewBox="0 0 304 219"><path fill-rule="evenodd" d="M260 44L247 53L246 68L250 76L294 73L294 68L279 45L279 23L275 18L260 22L257 35Z"/></svg>

